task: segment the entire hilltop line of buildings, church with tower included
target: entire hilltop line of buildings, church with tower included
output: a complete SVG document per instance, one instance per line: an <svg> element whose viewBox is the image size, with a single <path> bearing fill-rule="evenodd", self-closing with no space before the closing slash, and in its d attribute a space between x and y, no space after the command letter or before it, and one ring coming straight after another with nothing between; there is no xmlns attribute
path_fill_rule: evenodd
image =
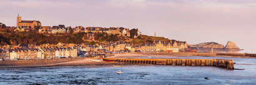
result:
<svg viewBox="0 0 256 85"><path fill-rule="evenodd" d="M118 28L118 27L65 27L64 24L59 24L58 26L42 26L40 21L22 21L21 16L17 16L17 26L14 28L14 31L29 31L34 30L39 27L40 33L52 33L56 34L58 32L69 32L69 30L72 30L74 33L76 32L106 32L107 34L122 34L126 36L130 36L130 31L128 28ZM138 32L139 34L139 32ZM137 36L137 35L136 35Z"/></svg>

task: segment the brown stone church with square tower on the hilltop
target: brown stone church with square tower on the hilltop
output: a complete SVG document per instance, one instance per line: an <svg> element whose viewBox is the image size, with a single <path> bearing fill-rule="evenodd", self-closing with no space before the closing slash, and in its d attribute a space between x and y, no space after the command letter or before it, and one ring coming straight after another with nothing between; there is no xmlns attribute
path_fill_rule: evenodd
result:
<svg viewBox="0 0 256 85"><path fill-rule="evenodd" d="M35 26L42 26L40 21L21 21L21 17L17 16L17 27L26 27L34 29Z"/></svg>

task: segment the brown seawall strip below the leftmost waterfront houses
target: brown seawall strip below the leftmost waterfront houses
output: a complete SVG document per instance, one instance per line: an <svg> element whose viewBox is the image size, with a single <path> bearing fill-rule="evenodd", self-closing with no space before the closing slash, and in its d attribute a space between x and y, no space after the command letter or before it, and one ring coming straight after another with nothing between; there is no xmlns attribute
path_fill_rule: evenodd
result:
<svg viewBox="0 0 256 85"><path fill-rule="evenodd" d="M84 58L63 58L63 59L37 59L37 60L18 60L18 61L0 61L2 66L40 66L47 64L64 63L68 61L76 61Z"/></svg>

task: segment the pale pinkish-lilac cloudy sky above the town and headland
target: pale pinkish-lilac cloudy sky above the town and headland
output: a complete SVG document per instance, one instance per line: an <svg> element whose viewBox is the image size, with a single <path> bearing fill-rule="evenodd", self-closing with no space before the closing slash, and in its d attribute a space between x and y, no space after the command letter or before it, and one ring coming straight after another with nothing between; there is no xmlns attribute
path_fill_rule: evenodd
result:
<svg viewBox="0 0 256 85"><path fill-rule="evenodd" d="M228 41L256 53L254 0L1 0L0 22L42 26L138 28L141 34L188 44ZM255 50L253 52L253 49Z"/></svg>

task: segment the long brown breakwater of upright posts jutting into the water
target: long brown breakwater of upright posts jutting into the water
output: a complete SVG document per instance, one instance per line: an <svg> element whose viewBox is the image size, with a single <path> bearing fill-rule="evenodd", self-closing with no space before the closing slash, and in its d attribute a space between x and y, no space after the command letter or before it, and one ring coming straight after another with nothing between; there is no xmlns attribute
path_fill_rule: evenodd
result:
<svg viewBox="0 0 256 85"><path fill-rule="evenodd" d="M234 69L233 60L227 59L118 59L117 62L173 66L216 66Z"/></svg>

